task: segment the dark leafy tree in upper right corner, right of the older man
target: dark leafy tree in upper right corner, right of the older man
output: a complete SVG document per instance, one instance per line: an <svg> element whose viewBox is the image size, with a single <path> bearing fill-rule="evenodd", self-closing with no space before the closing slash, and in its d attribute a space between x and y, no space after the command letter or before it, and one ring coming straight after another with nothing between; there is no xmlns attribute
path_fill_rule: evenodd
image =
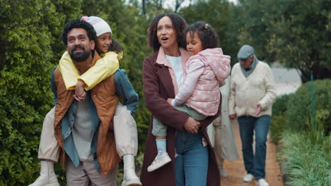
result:
<svg viewBox="0 0 331 186"><path fill-rule="evenodd" d="M330 78L331 2L279 1L281 15L270 21L269 53L286 67L298 68L304 82Z"/></svg>

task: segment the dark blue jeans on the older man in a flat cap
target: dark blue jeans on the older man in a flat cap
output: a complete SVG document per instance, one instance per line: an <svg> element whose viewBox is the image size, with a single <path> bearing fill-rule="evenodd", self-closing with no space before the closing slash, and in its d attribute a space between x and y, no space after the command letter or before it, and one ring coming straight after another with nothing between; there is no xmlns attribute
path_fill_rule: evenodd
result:
<svg viewBox="0 0 331 186"><path fill-rule="evenodd" d="M256 180L265 178L265 157L267 154L267 134L270 125L270 116L254 118L252 116L238 117L240 138L243 147L243 160L248 174ZM255 131L255 154L252 143Z"/></svg>

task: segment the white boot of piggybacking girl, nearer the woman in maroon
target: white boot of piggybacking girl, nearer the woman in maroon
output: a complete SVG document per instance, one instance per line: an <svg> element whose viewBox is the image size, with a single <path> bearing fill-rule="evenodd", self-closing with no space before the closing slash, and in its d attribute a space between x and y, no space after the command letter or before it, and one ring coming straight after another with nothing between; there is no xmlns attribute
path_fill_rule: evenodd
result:
<svg viewBox="0 0 331 186"><path fill-rule="evenodd" d="M124 176L122 186L141 186L141 182L136 175L134 168L134 156L132 154L123 157Z"/></svg>

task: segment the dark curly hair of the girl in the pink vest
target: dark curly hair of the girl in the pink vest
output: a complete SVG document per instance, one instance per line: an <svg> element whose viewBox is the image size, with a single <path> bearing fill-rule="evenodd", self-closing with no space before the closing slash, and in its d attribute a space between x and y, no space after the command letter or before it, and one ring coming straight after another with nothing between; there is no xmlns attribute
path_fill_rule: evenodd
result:
<svg viewBox="0 0 331 186"><path fill-rule="evenodd" d="M199 39L201 40L203 50L219 47L219 35L217 35L214 28L208 23L197 22L186 27L184 32L182 32L182 37L185 39L185 43L186 35L189 34L190 37L193 37L194 33L197 33Z"/></svg>

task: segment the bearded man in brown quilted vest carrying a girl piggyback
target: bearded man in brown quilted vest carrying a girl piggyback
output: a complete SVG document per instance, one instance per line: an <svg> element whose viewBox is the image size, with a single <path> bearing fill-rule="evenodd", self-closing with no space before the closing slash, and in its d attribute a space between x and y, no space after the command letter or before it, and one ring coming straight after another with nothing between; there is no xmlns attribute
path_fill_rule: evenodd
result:
<svg viewBox="0 0 331 186"><path fill-rule="evenodd" d="M95 39L95 30L86 21L71 20L64 27L62 40L80 74L100 59L94 51ZM128 81L116 74L95 85L86 99L76 101L75 91L66 89L59 68L52 72L54 133L67 185L116 185L121 159L115 147L112 117Z"/></svg>

